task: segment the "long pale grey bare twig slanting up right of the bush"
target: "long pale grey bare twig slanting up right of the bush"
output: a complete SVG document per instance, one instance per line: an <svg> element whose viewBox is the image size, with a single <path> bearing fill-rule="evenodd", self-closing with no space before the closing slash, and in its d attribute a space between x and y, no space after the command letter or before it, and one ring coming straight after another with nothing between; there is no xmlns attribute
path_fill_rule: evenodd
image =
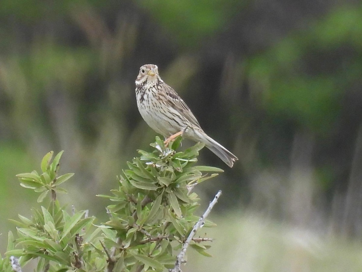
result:
<svg viewBox="0 0 362 272"><path fill-rule="evenodd" d="M211 212L212 208L215 206L216 202L218 202L218 199L221 195L221 190L218 191L218 193L215 195L214 199L210 202L209 207L207 207L205 213L200 217L199 221L195 224L195 226L192 228L189 237L186 239L184 245L181 248L181 252L177 255L175 267L173 269L169 269L169 272L182 272L180 266L182 263L186 263L184 256L186 254L186 250L191 243L192 239L195 236L196 231L201 228L204 223L207 215ZM207 238L204 238L207 239Z"/></svg>

